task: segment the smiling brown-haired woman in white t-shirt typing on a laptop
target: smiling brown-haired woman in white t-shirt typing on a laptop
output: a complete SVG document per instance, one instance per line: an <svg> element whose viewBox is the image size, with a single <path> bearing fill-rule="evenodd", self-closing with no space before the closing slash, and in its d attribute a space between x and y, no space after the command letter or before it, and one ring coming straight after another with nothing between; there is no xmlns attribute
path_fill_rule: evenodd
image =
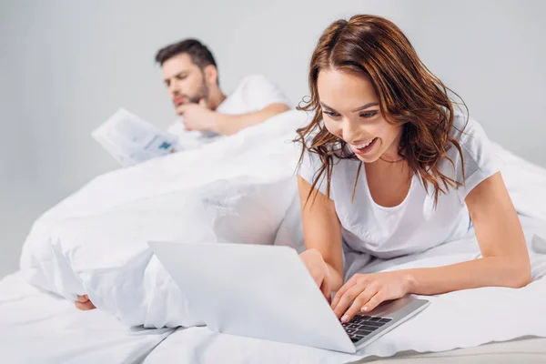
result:
<svg viewBox="0 0 546 364"><path fill-rule="evenodd" d="M307 248L300 257L327 299L337 291L331 307L342 322L409 293L530 282L521 225L487 136L454 110L449 89L396 25L372 15L336 21L319 39L308 82L301 108L314 116L297 139ZM418 253L472 225L480 259L343 283L344 253Z"/></svg>

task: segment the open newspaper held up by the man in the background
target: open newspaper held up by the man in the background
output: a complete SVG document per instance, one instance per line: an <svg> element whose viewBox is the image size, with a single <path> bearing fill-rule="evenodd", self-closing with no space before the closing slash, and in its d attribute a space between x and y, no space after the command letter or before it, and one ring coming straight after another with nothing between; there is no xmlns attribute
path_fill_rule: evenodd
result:
<svg viewBox="0 0 546 364"><path fill-rule="evenodd" d="M120 108L91 134L123 167L180 150L177 136Z"/></svg>

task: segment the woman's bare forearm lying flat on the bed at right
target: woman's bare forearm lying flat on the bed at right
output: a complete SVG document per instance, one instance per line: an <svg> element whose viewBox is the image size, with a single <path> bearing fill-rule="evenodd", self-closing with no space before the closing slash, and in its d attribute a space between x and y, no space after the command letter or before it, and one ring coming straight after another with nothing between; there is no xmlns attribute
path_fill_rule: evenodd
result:
<svg viewBox="0 0 546 364"><path fill-rule="evenodd" d="M408 293L436 295L480 287L521 288L531 281L529 260L488 257L439 268L400 270Z"/></svg>

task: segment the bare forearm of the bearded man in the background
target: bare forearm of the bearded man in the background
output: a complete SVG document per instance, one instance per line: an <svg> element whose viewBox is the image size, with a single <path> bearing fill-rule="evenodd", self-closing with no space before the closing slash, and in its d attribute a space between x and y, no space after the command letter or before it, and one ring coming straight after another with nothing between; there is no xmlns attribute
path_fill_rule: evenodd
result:
<svg viewBox="0 0 546 364"><path fill-rule="evenodd" d="M224 136L230 136L248 127L255 126L266 121L269 117L276 116L288 111L290 107L286 104L270 104L254 113L241 115L226 115L217 113L215 122L211 126L212 131Z"/></svg>

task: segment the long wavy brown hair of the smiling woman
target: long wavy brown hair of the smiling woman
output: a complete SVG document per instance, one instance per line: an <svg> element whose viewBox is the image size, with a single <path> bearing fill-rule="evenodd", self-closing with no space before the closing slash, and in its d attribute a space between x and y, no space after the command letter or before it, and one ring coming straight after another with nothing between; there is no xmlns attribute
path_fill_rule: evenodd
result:
<svg viewBox="0 0 546 364"><path fill-rule="evenodd" d="M429 184L434 187L435 204L440 193L445 194L450 187L460 187L464 183L464 164L462 181L443 175L439 168L442 158L447 158L455 167L447 156L450 146L456 147L462 158L459 141L450 136L453 106L448 91L457 94L432 75L398 26L379 16L354 15L349 21L332 23L320 36L309 66L310 98L304 102L307 105L298 106L300 110L314 111L309 125L299 128L295 139L302 144L299 164L306 152L319 155L322 163L308 198L325 173L329 197L335 158L358 159L347 144L330 134L322 123L317 78L321 70L331 69L369 77L379 98L381 115L390 124L402 126L399 157L419 175L425 188ZM464 102L462 105L466 108ZM353 198L360 167L361 163Z"/></svg>

